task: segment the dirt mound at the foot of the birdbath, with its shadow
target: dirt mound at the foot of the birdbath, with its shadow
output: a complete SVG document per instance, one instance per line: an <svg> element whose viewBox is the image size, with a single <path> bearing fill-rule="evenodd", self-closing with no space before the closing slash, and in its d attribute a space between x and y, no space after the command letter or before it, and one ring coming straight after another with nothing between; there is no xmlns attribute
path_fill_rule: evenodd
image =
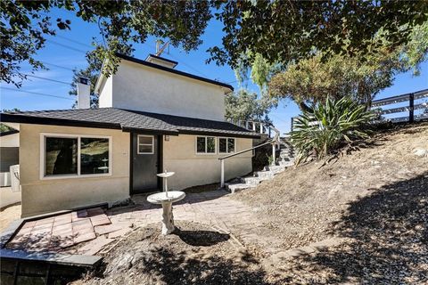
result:
<svg viewBox="0 0 428 285"><path fill-rule="evenodd" d="M104 256L105 267L73 284L262 284L258 261L226 233L177 222L161 236L161 224L137 229Z"/></svg>

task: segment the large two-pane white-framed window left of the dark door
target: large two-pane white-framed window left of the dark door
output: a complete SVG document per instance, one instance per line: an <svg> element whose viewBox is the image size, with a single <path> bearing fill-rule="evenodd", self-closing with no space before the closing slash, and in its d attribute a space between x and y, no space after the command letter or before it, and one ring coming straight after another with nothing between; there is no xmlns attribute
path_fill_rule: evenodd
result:
<svg viewBox="0 0 428 285"><path fill-rule="evenodd" d="M111 174L111 138L41 134L41 179Z"/></svg>

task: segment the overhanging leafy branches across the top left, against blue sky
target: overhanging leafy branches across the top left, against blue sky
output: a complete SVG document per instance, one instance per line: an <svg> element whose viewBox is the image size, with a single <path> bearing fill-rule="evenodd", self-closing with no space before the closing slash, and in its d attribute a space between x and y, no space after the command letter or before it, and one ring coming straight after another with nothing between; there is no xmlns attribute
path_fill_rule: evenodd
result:
<svg viewBox="0 0 428 285"><path fill-rule="evenodd" d="M119 59L115 53L121 45L132 48L153 35L189 51L201 44L200 36L211 18L210 4L205 1L5 0L0 8L0 79L18 87L26 78L21 63L29 63L33 71L45 69L35 56L45 46L45 37L54 36L57 29L71 28L70 19L57 19L53 27L49 16L53 8L75 12L80 19L98 25L103 41L95 42L95 54L109 60L103 70L107 75L116 71Z"/></svg>

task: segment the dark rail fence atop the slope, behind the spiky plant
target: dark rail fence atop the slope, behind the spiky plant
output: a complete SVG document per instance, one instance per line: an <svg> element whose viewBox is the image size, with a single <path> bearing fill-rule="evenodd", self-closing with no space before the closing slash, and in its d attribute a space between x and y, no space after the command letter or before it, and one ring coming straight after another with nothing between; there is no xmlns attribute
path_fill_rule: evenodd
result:
<svg viewBox="0 0 428 285"><path fill-rule="evenodd" d="M392 123L409 122L413 123L417 120L428 119L428 102L423 102L424 98L428 98L428 89L416 91L414 93L401 94L372 102L371 110L374 110L381 120L391 121ZM408 102L406 106L393 106L395 104ZM385 107L387 107L385 109ZM392 107L392 108L388 108ZM424 110L417 113L417 110ZM399 114L407 112L407 116L386 118L384 115ZM292 126L294 128L294 121L298 118L292 117ZM379 121L379 120L377 120Z"/></svg>

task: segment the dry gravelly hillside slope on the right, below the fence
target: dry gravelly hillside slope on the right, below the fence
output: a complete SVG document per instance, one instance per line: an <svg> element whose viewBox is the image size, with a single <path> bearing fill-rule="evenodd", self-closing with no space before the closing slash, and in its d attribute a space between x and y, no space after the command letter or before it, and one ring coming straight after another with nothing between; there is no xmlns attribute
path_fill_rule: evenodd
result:
<svg viewBox="0 0 428 285"><path fill-rule="evenodd" d="M277 248L345 240L276 262L286 283L428 283L428 124L378 134L324 167L289 169L235 196L268 220ZM268 214L268 215L266 215Z"/></svg>

